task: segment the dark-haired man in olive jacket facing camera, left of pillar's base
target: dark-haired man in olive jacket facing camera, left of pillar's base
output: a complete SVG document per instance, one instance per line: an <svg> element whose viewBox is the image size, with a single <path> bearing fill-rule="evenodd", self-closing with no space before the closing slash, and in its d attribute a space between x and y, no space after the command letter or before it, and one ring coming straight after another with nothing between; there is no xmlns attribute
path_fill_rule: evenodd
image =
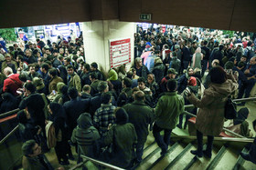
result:
<svg viewBox="0 0 256 170"><path fill-rule="evenodd" d="M68 86L69 87L75 87L78 92L81 91L81 85L80 85L80 76L77 75L74 71L74 67L72 65L67 66L68 71Z"/></svg>

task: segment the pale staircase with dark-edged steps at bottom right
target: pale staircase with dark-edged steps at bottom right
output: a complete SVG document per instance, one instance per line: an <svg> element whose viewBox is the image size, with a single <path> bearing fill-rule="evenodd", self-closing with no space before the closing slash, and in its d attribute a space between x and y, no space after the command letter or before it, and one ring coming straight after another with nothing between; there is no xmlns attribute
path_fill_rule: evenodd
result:
<svg viewBox="0 0 256 170"><path fill-rule="evenodd" d="M240 138L224 138L216 137L214 139L214 148L212 157L198 158L190 154L190 150L197 149L196 136L180 136L171 137L172 145L169 146L166 155L161 156L161 149L155 143L153 135L148 135L148 139L144 145L143 161L139 165L134 165L136 170L159 170L159 169L223 169L223 170L253 170L256 165L249 161L244 161L240 157L240 151L248 152L245 145L252 142L252 139ZM207 138L204 137L204 143ZM206 147L206 145L204 145Z"/></svg>

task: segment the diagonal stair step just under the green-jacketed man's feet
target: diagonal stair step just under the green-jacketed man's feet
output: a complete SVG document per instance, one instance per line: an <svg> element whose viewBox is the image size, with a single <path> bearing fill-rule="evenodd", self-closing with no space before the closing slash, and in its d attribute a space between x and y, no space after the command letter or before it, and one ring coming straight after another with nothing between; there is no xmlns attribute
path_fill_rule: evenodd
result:
<svg viewBox="0 0 256 170"><path fill-rule="evenodd" d="M165 157L152 169L165 169L165 167L168 166L176 158L176 156L179 155L183 150L184 147L182 145L176 145L176 148L171 153L167 153Z"/></svg>

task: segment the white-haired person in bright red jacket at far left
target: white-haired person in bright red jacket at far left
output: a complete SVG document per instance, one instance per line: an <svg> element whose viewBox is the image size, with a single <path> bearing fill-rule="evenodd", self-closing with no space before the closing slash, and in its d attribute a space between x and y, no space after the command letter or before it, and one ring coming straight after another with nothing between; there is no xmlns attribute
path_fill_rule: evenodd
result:
<svg viewBox="0 0 256 170"><path fill-rule="evenodd" d="M16 90L22 88L22 82L18 78L18 74L14 74L11 67L5 67L4 74L6 79L4 80L3 92L8 92L17 96Z"/></svg>

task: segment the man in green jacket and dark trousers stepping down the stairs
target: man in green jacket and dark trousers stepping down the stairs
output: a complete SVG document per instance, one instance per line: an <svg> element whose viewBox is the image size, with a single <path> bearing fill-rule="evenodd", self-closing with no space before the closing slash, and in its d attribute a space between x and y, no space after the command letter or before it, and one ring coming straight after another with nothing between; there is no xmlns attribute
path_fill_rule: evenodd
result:
<svg viewBox="0 0 256 170"><path fill-rule="evenodd" d="M155 107L155 124L153 126L153 135L157 145L161 148L161 155L165 155L170 144L172 130L176 128L178 116L184 111L184 98L177 95L176 80L167 81L167 93L162 95ZM164 138L160 135L165 131Z"/></svg>

